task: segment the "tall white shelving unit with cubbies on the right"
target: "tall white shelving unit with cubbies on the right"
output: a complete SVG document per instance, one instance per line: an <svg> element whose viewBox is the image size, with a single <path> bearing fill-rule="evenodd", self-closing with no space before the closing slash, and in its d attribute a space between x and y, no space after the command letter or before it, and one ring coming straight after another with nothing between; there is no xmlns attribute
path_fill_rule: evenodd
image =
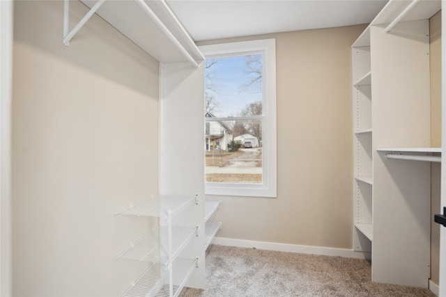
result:
<svg viewBox="0 0 446 297"><path fill-rule="evenodd" d="M429 18L440 9L391 0L352 46L353 244L371 252L374 282L429 284L429 162L441 152L429 147Z"/></svg>

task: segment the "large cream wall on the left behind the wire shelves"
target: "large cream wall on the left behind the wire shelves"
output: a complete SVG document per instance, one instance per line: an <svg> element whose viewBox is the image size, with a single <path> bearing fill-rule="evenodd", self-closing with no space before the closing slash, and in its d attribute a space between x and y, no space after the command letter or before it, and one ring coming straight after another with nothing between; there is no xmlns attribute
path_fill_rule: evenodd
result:
<svg viewBox="0 0 446 297"><path fill-rule="evenodd" d="M63 1L15 1L14 25L13 294L121 295L140 222L114 212L157 193L158 63L97 15L66 47Z"/></svg>

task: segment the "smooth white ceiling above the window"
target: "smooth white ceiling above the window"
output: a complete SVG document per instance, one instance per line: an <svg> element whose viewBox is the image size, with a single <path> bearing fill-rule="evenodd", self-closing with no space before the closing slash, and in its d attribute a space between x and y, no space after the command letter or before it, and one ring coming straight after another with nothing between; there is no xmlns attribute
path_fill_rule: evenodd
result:
<svg viewBox="0 0 446 297"><path fill-rule="evenodd" d="M387 0L167 0L195 41L368 24Z"/></svg>

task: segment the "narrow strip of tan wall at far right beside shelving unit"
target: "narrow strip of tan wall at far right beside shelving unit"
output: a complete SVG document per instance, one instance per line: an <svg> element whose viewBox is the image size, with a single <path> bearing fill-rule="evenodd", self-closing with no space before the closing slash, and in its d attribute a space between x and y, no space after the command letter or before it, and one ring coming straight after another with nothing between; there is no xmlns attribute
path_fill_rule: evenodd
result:
<svg viewBox="0 0 446 297"><path fill-rule="evenodd" d="M441 147L441 11L429 22L431 58L431 146ZM440 225L433 214L440 214L440 163L431 164L431 280L438 284Z"/></svg>

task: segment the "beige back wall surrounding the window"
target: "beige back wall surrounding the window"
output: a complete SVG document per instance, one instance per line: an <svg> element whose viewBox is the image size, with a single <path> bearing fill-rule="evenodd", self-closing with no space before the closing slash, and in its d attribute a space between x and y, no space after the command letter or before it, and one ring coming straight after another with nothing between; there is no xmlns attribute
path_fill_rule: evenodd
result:
<svg viewBox="0 0 446 297"><path fill-rule="evenodd" d="M276 38L277 198L222 200L219 237L351 249L351 45L364 25L217 42Z"/></svg>

